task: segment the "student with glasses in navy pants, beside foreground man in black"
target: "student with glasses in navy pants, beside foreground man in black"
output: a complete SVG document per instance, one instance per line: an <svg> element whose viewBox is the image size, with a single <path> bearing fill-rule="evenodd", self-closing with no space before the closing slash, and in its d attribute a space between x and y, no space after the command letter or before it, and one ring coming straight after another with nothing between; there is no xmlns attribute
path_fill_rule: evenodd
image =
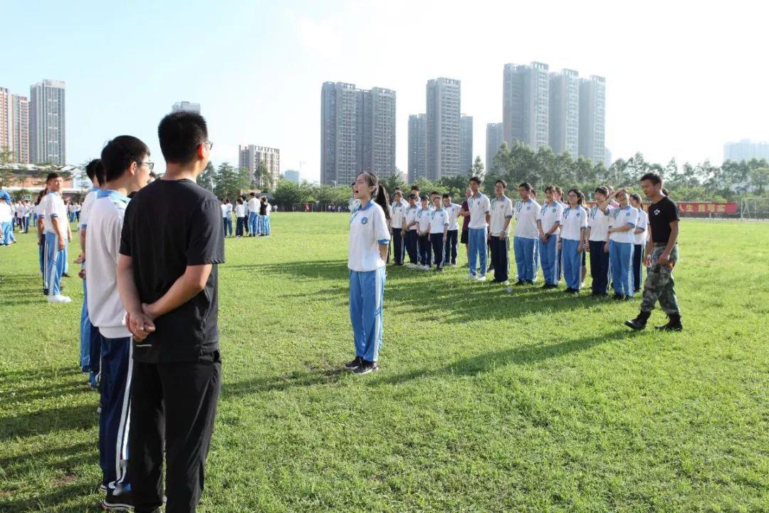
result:
<svg viewBox="0 0 769 513"><path fill-rule="evenodd" d="M106 489L102 506L133 506L128 472L131 412L131 331L118 292L118 252L128 195L144 187L152 169L149 148L130 135L120 135L102 150L105 182L88 214L85 239L88 311L102 336L102 398L99 415L99 461Z"/></svg>

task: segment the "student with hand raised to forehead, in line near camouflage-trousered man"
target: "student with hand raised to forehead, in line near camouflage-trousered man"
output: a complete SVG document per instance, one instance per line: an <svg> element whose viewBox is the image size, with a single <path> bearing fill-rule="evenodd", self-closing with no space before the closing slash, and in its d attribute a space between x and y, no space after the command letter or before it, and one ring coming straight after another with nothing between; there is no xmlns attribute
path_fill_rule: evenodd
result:
<svg viewBox="0 0 769 513"><path fill-rule="evenodd" d="M608 206L617 198L618 207ZM634 229L638 225L638 210L628 204L628 192L619 189L612 192L607 201L601 204L609 217L609 262L611 265L611 283L614 286L614 299L630 300L633 298L633 245Z"/></svg>

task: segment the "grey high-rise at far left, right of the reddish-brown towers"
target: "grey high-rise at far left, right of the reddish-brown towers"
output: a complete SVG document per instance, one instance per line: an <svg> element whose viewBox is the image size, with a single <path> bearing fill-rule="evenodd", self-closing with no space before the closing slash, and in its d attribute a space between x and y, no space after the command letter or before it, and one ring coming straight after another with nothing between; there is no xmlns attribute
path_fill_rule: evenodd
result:
<svg viewBox="0 0 769 513"><path fill-rule="evenodd" d="M35 164L65 165L65 83L44 80L29 91L29 158Z"/></svg>

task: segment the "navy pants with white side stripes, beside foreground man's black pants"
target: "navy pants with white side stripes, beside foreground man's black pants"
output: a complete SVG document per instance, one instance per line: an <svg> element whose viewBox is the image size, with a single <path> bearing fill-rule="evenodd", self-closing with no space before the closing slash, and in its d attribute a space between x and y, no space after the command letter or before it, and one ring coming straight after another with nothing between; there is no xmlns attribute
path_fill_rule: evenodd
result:
<svg viewBox="0 0 769 513"><path fill-rule="evenodd" d="M99 416L99 464L108 490L130 486L128 418L131 415L131 337L102 337L102 415Z"/></svg>

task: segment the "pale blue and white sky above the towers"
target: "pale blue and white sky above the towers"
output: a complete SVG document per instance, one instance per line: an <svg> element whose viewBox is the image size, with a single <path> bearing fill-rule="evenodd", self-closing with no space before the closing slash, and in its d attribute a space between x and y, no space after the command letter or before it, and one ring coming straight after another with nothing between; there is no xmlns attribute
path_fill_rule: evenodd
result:
<svg viewBox="0 0 769 513"><path fill-rule="evenodd" d="M709 5L713 4L713 5ZM32 6L34 5L34 8ZM766 2L92 2L4 0L0 87L66 82L67 160L135 135L162 170L156 128L174 102L201 104L211 160L280 148L281 172L320 178L321 85L397 94L396 165L425 85L461 80L474 155L502 120L505 63L545 62L607 81L606 145L720 164L724 142L769 139Z"/></svg>

